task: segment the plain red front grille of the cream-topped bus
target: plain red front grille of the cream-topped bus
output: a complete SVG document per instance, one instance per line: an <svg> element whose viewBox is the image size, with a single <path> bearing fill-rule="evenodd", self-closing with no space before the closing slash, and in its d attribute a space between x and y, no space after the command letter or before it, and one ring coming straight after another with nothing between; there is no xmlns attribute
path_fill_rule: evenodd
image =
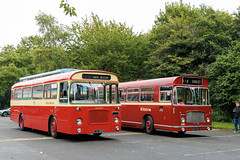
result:
<svg viewBox="0 0 240 160"><path fill-rule="evenodd" d="M106 123L108 116L108 110L91 110L89 111L89 123Z"/></svg>

